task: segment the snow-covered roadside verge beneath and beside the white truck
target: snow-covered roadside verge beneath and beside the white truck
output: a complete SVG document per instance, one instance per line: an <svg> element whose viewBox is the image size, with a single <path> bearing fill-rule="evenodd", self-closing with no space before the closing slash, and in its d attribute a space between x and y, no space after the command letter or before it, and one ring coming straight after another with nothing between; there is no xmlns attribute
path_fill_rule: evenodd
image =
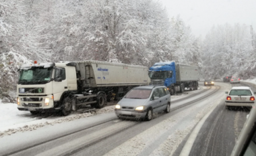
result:
<svg viewBox="0 0 256 156"><path fill-rule="evenodd" d="M57 123L69 122L96 114L113 112L115 106L106 106L96 109L93 112L73 113L69 116L48 116L42 118L34 116L28 111L19 111L17 105L13 103L0 103L0 137L11 135L13 133L33 131L45 125L55 125Z"/></svg>

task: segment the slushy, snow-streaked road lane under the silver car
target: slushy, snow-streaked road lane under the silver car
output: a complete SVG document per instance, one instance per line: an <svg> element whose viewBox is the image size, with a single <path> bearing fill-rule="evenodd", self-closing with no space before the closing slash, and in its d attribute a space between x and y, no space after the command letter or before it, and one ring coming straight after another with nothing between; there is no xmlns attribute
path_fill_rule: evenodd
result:
<svg viewBox="0 0 256 156"><path fill-rule="evenodd" d="M115 112L49 125L0 139L1 155L174 155L179 144L223 101L219 85L172 101L168 114L152 121L123 121ZM203 91L203 92L202 92ZM201 92L197 94L197 92ZM202 98L204 97L204 98ZM183 98L183 97L181 97ZM193 102L191 102L193 101ZM178 109L176 107L179 107Z"/></svg>

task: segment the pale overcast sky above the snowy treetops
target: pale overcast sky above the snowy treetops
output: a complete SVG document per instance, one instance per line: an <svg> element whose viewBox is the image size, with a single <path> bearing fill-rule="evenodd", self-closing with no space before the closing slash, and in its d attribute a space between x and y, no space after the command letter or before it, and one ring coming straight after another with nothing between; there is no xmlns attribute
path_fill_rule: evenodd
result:
<svg viewBox="0 0 256 156"><path fill-rule="evenodd" d="M159 0L169 17L180 15L195 36L205 37L213 25L241 23L256 31L256 0Z"/></svg>

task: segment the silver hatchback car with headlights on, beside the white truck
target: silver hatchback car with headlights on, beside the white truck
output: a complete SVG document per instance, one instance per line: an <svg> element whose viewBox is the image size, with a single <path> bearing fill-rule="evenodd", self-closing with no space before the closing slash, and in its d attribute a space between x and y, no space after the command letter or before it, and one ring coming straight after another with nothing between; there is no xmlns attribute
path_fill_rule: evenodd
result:
<svg viewBox="0 0 256 156"><path fill-rule="evenodd" d="M131 89L115 106L119 119L146 119L153 112L170 112L170 92L165 86L139 86Z"/></svg>

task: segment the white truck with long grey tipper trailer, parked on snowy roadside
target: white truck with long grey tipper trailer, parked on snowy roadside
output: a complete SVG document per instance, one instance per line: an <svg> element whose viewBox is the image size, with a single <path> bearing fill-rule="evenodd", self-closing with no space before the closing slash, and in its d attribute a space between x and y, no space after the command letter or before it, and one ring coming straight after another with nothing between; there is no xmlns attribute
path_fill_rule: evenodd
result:
<svg viewBox="0 0 256 156"><path fill-rule="evenodd" d="M148 85L148 68L100 61L24 64L17 85L18 110L32 114L79 106L102 108L135 86Z"/></svg>

